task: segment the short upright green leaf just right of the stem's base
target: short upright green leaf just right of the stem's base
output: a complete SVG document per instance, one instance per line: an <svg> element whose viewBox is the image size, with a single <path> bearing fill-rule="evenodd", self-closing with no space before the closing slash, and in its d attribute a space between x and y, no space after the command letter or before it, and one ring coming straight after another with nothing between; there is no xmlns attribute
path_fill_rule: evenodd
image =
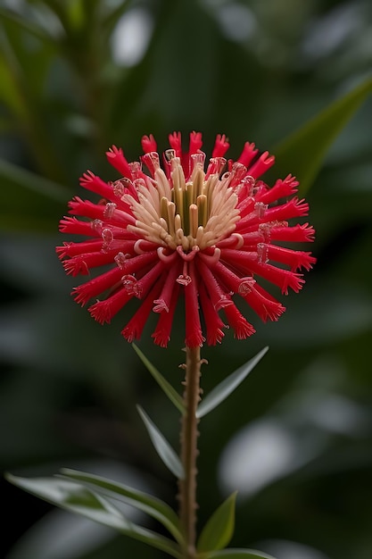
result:
<svg viewBox="0 0 372 559"><path fill-rule="evenodd" d="M235 510L236 492L227 497L205 524L197 544L198 553L227 546L234 533Z"/></svg>

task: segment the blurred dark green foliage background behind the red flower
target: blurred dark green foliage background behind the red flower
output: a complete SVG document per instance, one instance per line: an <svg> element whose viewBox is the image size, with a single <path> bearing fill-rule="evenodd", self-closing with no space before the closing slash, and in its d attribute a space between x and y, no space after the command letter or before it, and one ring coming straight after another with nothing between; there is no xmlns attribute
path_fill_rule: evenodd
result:
<svg viewBox="0 0 372 559"><path fill-rule="evenodd" d="M245 140L275 153L370 75L372 4L2 0L0 20L1 469L84 469L177 507L136 403L175 446L178 415L120 337L127 317L103 328L70 298L58 221L83 171L112 179L112 143L130 161L143 134L163 149L169 132L195 129L207 154L217 133L231 156ZM372 557L371 123L368 98L306 195L318 264L303 292L278 323L253 319L251 339L203 349L208 391L270 346L201 424L199 522L237 488L232 546L277 559ZM178 388L182 320L167 351L151 331L139 346ZM6 559L161 557L1 488Z"/></svg>

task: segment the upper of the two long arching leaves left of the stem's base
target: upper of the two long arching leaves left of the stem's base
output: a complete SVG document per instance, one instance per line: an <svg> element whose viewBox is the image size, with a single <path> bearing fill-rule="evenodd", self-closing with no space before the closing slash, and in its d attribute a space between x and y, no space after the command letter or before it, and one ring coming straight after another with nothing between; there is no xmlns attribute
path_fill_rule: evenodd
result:
<svg viewBox="0 0 372 559"><path fill-rule="evenodd" d="M169 505L152 495L148 495L138 489L129 488L127 485L116 481L107 480L85 471L70 470L63 468L62 476L72 480L78 480L88 487L93 486L100 494L119 499L152 516L169 530L174 538L181 544L184 538L181 533L178 515Z"/></svg>

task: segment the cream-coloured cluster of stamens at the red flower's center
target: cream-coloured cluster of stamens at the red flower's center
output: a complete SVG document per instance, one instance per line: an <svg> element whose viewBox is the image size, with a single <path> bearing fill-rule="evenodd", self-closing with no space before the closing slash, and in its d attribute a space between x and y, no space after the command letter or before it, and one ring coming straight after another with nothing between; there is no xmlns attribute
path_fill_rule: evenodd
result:
<svg viewBox="0 0 372 559"><path fill-rule="evenodd" d="M138 201L131 195L123 196L136 217L136 225L128 229L172 250L181 246L188 252L194 246L200 250L215 246L236 229L240 219L236 193L228 186L230 174L221 178L211 174L206 179L203 163L195 163L186 182L178 157L170 163L171 185L158 166L154 179L135 181Z"/></svg>

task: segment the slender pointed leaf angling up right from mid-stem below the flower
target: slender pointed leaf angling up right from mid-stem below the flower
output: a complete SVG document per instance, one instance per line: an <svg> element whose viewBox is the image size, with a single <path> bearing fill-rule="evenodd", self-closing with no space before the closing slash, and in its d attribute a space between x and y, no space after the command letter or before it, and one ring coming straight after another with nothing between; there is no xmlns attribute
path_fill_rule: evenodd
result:
<svg viewBox="0 0 372 559"><path fill-rule="evenodd" d="M222 380L217 387L213 388L211 392L203 398L203 401L196 410L196 417L201 418L203 415L211 412L221 402L223 402L230 394L243 382L245 377L249 375L252 369L260 362L262 357L267 353L269 347L264 347L260 353L252 357L250 361L244 363L237 371L230 374L227 379Z"/></svg>

